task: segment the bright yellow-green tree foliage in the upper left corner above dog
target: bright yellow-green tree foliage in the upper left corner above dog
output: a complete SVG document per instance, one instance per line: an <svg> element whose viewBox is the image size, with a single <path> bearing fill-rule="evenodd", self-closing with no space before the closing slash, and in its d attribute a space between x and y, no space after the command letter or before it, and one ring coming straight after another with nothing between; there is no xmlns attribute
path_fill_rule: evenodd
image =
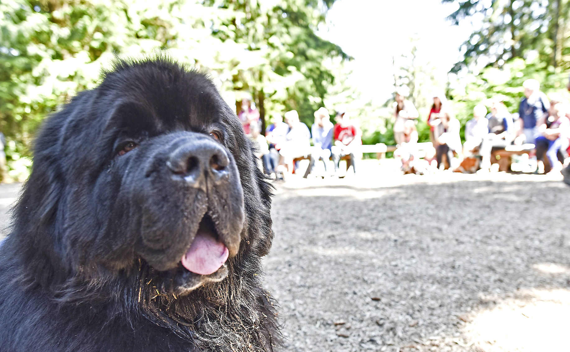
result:
<svg viewBox="0 0 570 352"><path fill-rule="evenodd" d="M92 87L113 53L172 46L183 7L168 0L0 2L0 128L10 140L11 168L21 172L30 164L21 156L30 155L39 122Z"/></svg>

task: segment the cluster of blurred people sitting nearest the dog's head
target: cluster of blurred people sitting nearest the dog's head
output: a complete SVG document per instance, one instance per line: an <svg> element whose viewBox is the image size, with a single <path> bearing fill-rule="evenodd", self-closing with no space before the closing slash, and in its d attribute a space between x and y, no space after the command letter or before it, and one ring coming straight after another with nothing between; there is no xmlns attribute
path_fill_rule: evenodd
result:
<svg viewBox="0 0 570 352"><path fill-rule="evenodd" d="M299 120L295 110L275 114L264 135L259 112L252 108L249 100L244 99L238 116L243 130L253 141L264 172L272 179L286 179L298 172L301 159L309 160L303 177L314 172L317 163L323 164L319 176L344 177L346 173L339 167L341 159L347 160L347 171L352 167L352 172L356 172L357 160L361 157L357 146L362 144L362 133L345 111L336 112L336 124L333 124L329 111L319 108L311 130Z"/></svg>

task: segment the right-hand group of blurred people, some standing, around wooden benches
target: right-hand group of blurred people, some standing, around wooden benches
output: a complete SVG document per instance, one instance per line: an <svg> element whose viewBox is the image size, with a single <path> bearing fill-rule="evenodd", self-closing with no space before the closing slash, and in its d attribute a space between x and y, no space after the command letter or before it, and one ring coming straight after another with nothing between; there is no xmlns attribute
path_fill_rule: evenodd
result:
<svg viewBox="0 0 570 352"><path fill-rule="evenodd" d="M500 99L491 99L488 105L478 104L473 118L465 124L465 143L459 136L461 124L453 116L444 95L434 94L426 122L430 127L433 148L417 148L415 129L417 110L409 100L397 93L394 103L394 139L398 149L394 153L402 162L405 173L426 173L453 168L459 172L488 172L492 169L492 152L496 149L516 148L528 152L527 163L534 173L563 172L570 176L570 168L563 169L570 151L570 105L560 93L548 97L540 91L540 83L527 79L523 83L524 96L518 112L510 114ZM570 83L568 84L570 90ZM487 110L488 107L488 110ZM411 136L411 137L408 137ZM421 154L421 155L420 155ZM465 161L465 164L463 163ZM465 165L469 165L466 167Z"/></svg>

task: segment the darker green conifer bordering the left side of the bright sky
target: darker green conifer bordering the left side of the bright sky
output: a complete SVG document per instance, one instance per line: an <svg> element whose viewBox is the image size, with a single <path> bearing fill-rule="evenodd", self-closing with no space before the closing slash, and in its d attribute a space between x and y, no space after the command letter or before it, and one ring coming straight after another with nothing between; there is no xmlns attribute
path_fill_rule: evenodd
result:
<svg viewBox="0 0 570 352"><path fill-rule="evenodd" d="M215 27L222 41L246 44L262 60L257 66L234 71L233 90L249 91L262 119L271 113L295 109L311 123L335 83L327 58L349 59L339 46L316 35L334 0L207 1L233 11Z"/></svg>

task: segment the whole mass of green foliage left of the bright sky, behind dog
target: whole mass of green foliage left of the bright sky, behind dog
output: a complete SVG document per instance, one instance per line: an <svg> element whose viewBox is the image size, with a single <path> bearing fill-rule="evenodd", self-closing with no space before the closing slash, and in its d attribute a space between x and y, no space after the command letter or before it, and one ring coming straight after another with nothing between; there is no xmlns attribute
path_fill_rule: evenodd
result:
<svg viewBox="0 0 570 352"><path fill-rule="evenodd" d="M334 0L6 0L0 2L0 128L11 175L30 163L41 120L91 88L114 55L169 55L209 72L232 104L306 122L349 59L316 28ZM334 65L328 58L340 58ZM243 93L242 93L243 92Z"/></svg>

